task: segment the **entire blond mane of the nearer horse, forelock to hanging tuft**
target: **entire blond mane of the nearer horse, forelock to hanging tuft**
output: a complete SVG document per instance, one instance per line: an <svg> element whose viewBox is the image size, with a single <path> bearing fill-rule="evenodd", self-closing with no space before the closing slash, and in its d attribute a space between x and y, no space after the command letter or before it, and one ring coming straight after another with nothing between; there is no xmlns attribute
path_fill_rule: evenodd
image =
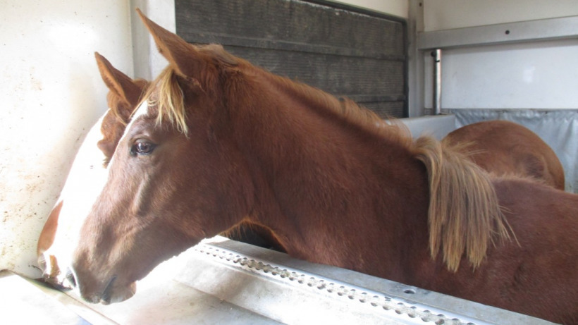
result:
<svg viewBox="0 0 578 325"><path fill-rule="evenodd" d="M236 63L237 66L250 65L241 59ZM399 143L423 162L429 178L429 250L434 259L441 250L443 262L450 271L457 271L464 254L474 268L478 267L486 257L488 243L510 239L512 231L500 210L490 176L464 154L431 137L413 141L400 121L384 121L350 99L339 100L309 85L269 76L287 87L288 92L300 94L299 98L309 106L326 109L367 132ZM154 88L158 88L157 98L151 101L159 110L156 122L166 119L186 135L184 95L176 72L166 68L154 86L149 87L149 94Z"/></svg>

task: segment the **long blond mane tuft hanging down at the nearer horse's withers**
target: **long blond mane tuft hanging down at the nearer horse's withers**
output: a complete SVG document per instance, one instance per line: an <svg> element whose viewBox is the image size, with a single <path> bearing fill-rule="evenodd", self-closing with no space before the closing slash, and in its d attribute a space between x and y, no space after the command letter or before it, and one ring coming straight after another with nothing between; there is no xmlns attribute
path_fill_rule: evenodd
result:
<svg viewBox="0 0 578 325"><path fill-rule="evenodd" d="M488 243L495 243L496 238L509 240L512 233L490 175L464 154L431 137L419 137L414 152L429 177L431 257L441 250L448 269L457 271L465 253L476 268L486 257Z"/></svg>

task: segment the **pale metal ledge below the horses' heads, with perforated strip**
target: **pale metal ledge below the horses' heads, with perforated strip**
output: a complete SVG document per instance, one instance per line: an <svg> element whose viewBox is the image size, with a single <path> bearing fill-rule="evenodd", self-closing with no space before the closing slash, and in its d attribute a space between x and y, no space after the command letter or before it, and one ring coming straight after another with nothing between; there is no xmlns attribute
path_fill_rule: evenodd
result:
<svg viewBox="0 0 578 325"><path fill-rule="evenodd" d="M157 266L108 306L1 276L3 324L552 324L225 238Z"/></svg>

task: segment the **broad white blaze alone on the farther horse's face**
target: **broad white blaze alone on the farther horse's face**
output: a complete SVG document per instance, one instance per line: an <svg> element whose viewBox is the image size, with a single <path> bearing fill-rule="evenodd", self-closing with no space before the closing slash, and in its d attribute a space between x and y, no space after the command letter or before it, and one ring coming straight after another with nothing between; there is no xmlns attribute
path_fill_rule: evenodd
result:
<svg viewBox="0 0 578 325"><path fill-rule="evenodd" d="M103 138L100 129L104 115L87 133L66 178L57 202L63 202L63 206L54 243L44 252L48 264L52 262L48 257L54 256L59 267L66 268L70 265L73 249L78 243L80 227L106 183L108 171L103 165L105 156L97 147L97 143ZM47 268L51 269L51 265L47 265ZM62 283L65 275L66 270L61 269L59 282Z"/></svg>

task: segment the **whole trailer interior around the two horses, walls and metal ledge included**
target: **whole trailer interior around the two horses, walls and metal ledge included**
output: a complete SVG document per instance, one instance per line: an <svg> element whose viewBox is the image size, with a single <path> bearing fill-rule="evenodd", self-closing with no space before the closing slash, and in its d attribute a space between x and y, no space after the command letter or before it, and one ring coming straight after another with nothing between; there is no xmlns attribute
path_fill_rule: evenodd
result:
<svg viewBox="0 0 578 325"><path fill-rule="evenodd" d="M222 44L273 73L400 118L413 137L441 140L479 121L524 125L560 159L565 191L578 193L577 1L1 6L0 323L552 324L221 236L157 266L133 298L96 305L42 283L37 241L107 109L94 51L131 78L152 80L166 66L136 8L187 42Z"/></svg>

